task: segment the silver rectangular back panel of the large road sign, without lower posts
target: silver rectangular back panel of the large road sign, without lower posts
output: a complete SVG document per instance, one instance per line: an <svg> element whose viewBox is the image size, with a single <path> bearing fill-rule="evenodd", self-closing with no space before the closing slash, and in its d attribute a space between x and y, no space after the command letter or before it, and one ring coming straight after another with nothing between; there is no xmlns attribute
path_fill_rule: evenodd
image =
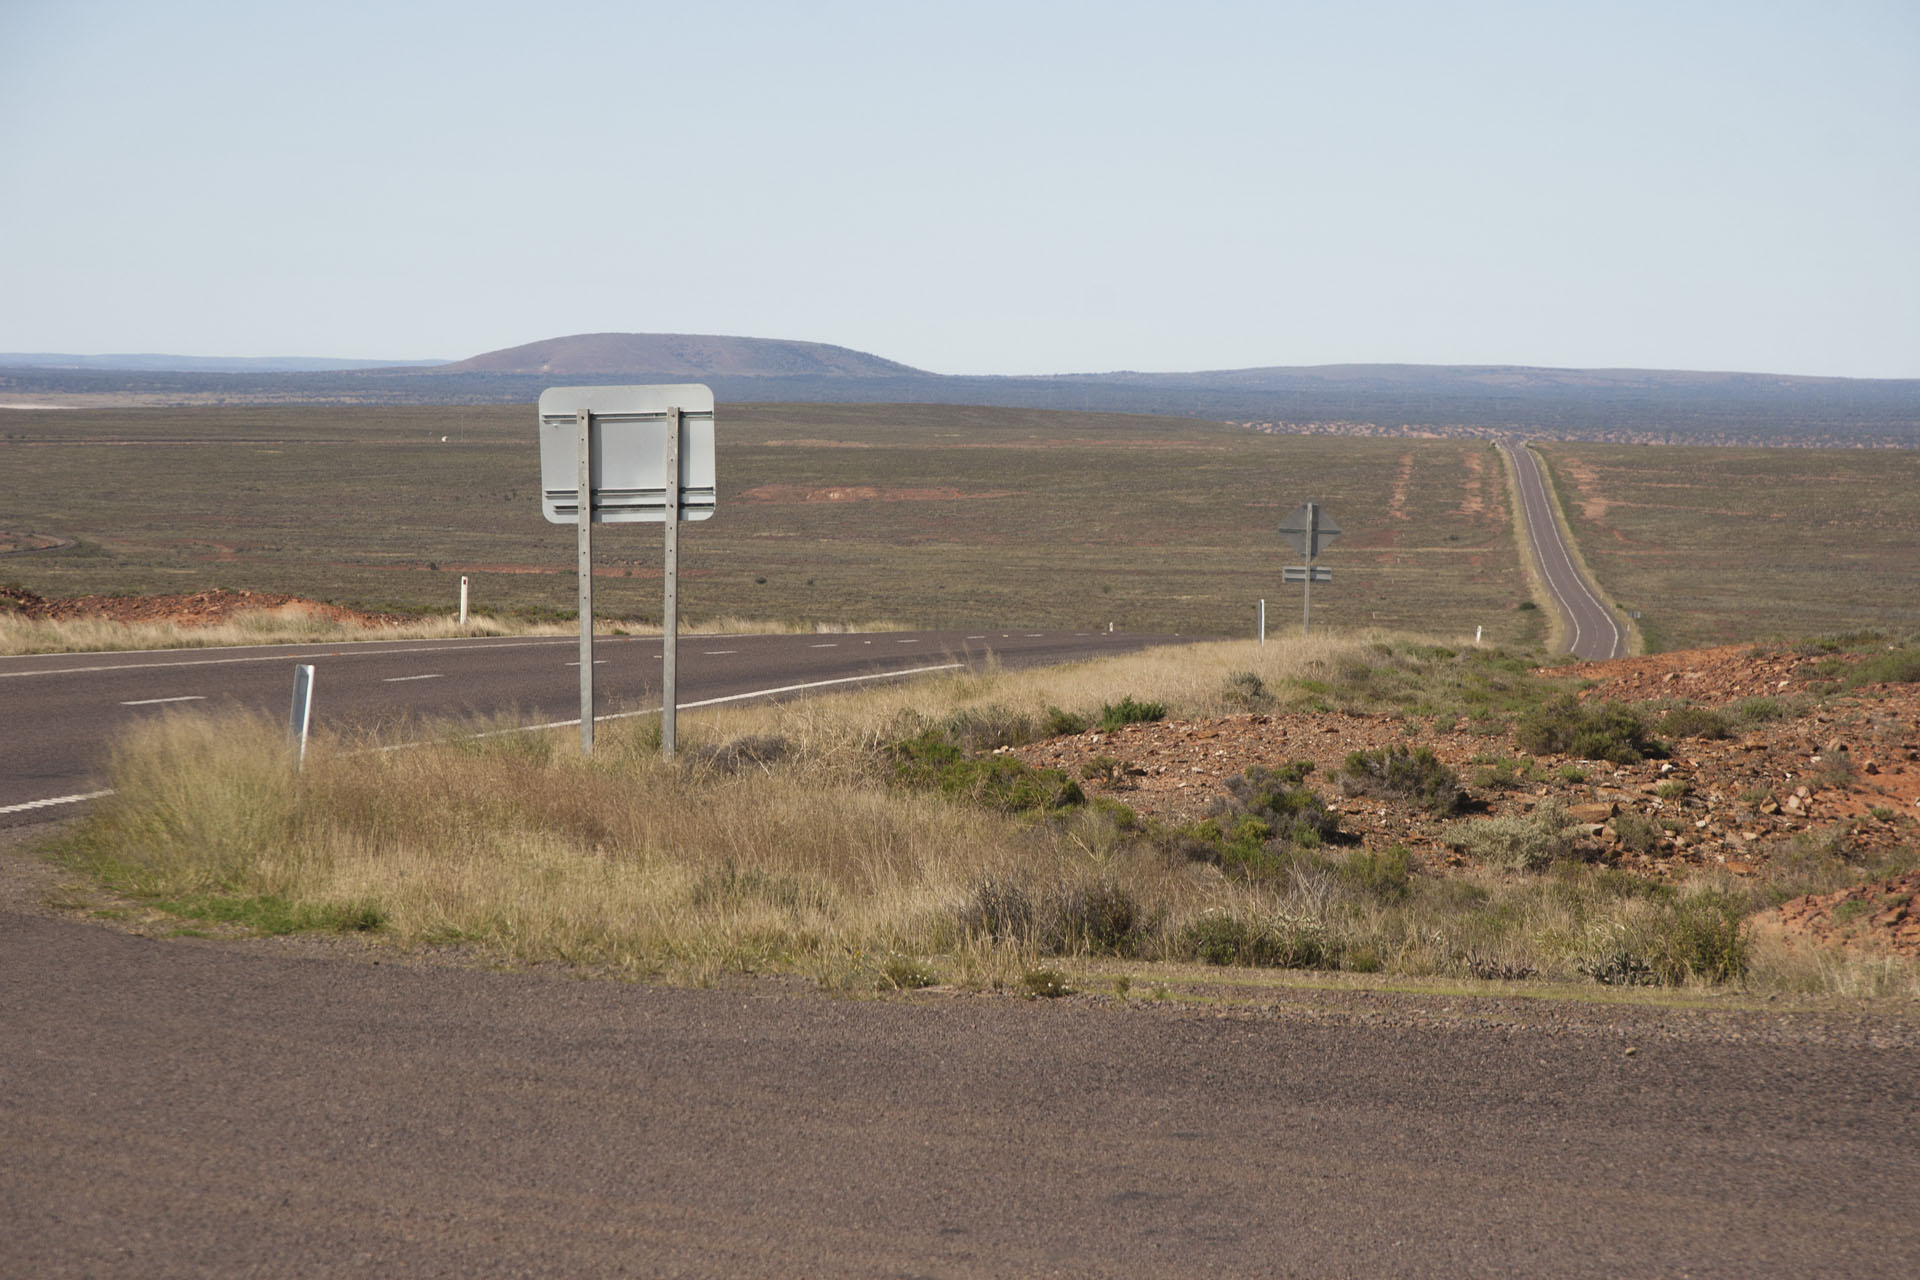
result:
<svg viewBox="0 0 1920 1280"><path fill-rule="evenodd" d="M680 409L680 518L714 514L714 393L678 386L557 386L540 393L540 507L580 522L580 415L593 415L593 524L666 520L666 411Z"/></svg>

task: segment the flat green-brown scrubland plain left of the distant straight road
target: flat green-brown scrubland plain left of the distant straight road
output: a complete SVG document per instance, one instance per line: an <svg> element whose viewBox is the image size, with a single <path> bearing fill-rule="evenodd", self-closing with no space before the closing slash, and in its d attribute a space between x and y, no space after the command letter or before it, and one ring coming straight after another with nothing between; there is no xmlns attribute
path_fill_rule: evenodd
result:
<svg viewBox="0 0 1920 1280"><path fill-rule="evenodd" d="M394 612L574 608L538 507L532 407L0 411L0 526L40 595L290 591ZM1277 438L1181 418L939 405L722 405L720 509L682 537L682 612L795 626L1298 629L1275 526L1346 530L1315 624L1538 639L1480 441ZM597 601L660 614L660 537L603 526Z"/></svg>

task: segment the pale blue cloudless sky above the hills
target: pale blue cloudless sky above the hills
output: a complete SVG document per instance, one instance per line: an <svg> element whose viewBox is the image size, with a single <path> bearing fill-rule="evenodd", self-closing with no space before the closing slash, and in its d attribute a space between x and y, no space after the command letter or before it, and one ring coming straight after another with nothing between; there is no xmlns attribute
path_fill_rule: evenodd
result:
<svg viewBox="0 0 1920 1280"><path fill-rule="evenodd" d="M1916 228L1912 0L0 0L0 351L1914 378Z"/></svg>

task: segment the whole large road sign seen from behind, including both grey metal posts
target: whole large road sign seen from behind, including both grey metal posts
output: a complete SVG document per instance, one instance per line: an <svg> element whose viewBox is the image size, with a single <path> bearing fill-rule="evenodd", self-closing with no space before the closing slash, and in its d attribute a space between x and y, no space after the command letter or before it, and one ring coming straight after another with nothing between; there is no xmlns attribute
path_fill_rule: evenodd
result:
<svg viewBox="0 0 1920 1280"><path fill-rule="evenodd" d="M680 522L714 514L714 393L701 384L547 388L540 393L541 514L578 530L580 750L593 752L593 526L662 524L660 752L680 695Z"/></svg>

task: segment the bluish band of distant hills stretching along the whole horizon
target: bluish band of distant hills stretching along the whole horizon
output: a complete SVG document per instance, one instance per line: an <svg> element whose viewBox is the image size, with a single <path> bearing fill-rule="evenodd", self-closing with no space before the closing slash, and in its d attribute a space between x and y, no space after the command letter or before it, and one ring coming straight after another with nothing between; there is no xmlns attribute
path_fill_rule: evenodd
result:
<svg viewBox="0 0 1920 1280"><path fill-rule="evenodd" d="M21 357L15 357L21 359ZM0 399L532 405L578 382L705 382L726 403L1000 405L1144 413L1342 436L1544 436L1630 443L1920 447L1920 380L1526 365L1281 365L1196 372L947 376L820 342L574 334L434 367L232 372L0 357ZM44 361L71 359L50 365ZM142 357L177 359L177 357ZM79 363L88 361L88 363Z"/></svg>

